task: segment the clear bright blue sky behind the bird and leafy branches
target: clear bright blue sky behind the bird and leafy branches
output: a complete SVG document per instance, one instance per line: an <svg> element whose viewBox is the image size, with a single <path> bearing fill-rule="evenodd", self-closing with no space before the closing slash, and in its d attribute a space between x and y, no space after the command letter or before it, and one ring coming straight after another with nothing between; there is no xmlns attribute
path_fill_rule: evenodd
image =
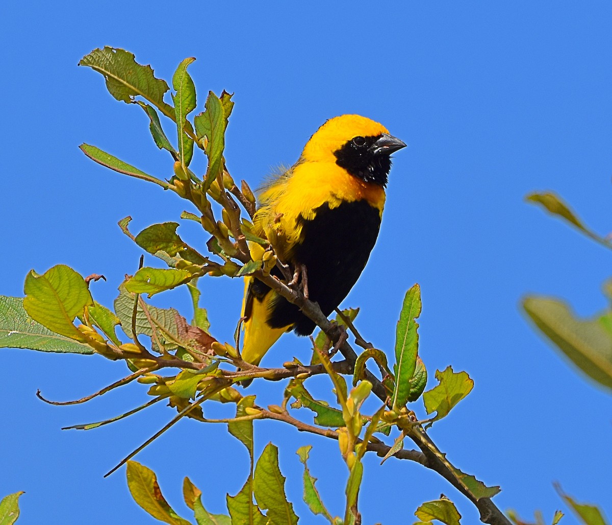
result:
<svg viewBox="0 0 612 525"><path fill-rule="evenodd" d="M530 292L561 296L580 315L606 306L600 284L610 276L610 252L523 197L552 189L595 230L612 229L612 6L330 4L199 2L181 12L178 4L139 1L95 9L4 2L0 293L23 295L31 268L65 263L83 275L105 274L93 290L110 306L140 255L116 222L131 215L138 232L185 209L176 196L79 151L92 143L146 172L171 175L143 111L114 100L99 74L76 66L94 48L132 51L166 80L195 56L190 73L201 103L209 89L235 93L225 155L234 178L252 187L296 161L327 118L369 116L408 148L395 155L378 244L344 303L362 307L360 331L389 352L403 294L419 282L420 355L430 376L452 364L476 382L430 431L442 451L501 485L494 501L502 510L531 516L541 509L550 521L564 509L552 485L558 481L612 517L611 397L575 373L518 308ZM201 172L203 161L194 167ZM179 232L196 246L207 240L188 225ZM231 340L241 282L211 279L202 293L213 333ZM190 314L185 292L165 295L157 304ZM47 406L35 398L37 388L51 399L80 398L125 375L125 367L95 356L1 352L0 495L26 491L19 523L159 523L132 501L124 470L102 475L173 410L155 406L95 431L61 431L137 406L145 389L130 385L84 406ZM264 364L293 355L306 359L308 341L284 336ZM319 379L317 388L328 387ZM258 401L278 402L282 390L267 385ZM420 404L416 410L425 415ZM324 523L301 502L295 451L305 444L314 445L310 468L324 499L342 512L346 472L335 442L275 422L260 422L255 432L258 451L269 441L280 446L288 497L303 523ZM136 459L157 472L185 517L185 475L212 512L225 512L225 493L235 494L247 475L244 447L226 427L195 421L181 421ZM476 510L438 475L407 461L378 463L365 462L364 523L408 523L440 493L457 503L463 523L477 523Z"/></svg>

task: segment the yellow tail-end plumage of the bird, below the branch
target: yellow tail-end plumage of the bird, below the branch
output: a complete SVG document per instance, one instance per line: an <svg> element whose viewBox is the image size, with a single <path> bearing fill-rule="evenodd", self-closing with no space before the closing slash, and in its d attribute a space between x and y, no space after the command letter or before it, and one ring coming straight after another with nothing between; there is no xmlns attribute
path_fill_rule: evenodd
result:
<svg viewBox="0 0 612 525"><path fill-rule="evenodd" d="M252 281L252 277L245 279L244 295L248 294L248 286ZM242 359L247 363L258 365L261 359L266 355L270 347L291 327L285 328L270 328L266 324L266 318L269 311L269 305L275 294L268 292L264 300L259 302L256 298L251 298L252 305L248 319L242 323ZM244 306L243 306L244 312Z"/></svg>

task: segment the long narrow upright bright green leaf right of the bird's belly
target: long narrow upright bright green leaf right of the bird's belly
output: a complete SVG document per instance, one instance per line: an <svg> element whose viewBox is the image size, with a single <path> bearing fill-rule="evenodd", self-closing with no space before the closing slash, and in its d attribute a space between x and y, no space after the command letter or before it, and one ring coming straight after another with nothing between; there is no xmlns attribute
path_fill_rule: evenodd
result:
<svg viewBox="0 0 612 525"><path fill-rule="evenodd" d="M419 350L419 325L416 319L420 312L420 287L415 284L406 292L395 332L395 391L392 397L394 410L405 407L410 397L410 379L414 376Z"/></svg>

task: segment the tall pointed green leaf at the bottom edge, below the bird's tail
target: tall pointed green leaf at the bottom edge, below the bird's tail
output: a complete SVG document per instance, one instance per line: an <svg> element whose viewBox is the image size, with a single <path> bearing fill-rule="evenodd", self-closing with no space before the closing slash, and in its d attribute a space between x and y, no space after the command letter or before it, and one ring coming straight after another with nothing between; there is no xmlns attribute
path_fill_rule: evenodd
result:
<svg viewBox="0 0 612 525"><path fill-rule="evenodd" d="M293 505L285 495L285 477L278 468L278 448L271 443L266 445L255 467L255 499L259 508L267 509L269 523L296 525L297 516Z"/></svg>

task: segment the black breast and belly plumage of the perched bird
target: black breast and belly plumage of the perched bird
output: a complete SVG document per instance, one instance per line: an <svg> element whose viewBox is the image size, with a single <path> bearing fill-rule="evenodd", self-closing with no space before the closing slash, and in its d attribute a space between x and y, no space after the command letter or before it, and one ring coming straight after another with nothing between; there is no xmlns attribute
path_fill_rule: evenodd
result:
<svg viewBox="0 0 612 525"><path fill-rule="evenodd" d="M305 265L308 293L323 314L329 315L348 295L364 270L380 227L380 214L365 200L343 202L332 210L324 204L312 221L301 218L304 241L294 247L291 262ZM267 322L273 328L294 325L298 335L308 335L315 323L278 296Z"/></svg>

